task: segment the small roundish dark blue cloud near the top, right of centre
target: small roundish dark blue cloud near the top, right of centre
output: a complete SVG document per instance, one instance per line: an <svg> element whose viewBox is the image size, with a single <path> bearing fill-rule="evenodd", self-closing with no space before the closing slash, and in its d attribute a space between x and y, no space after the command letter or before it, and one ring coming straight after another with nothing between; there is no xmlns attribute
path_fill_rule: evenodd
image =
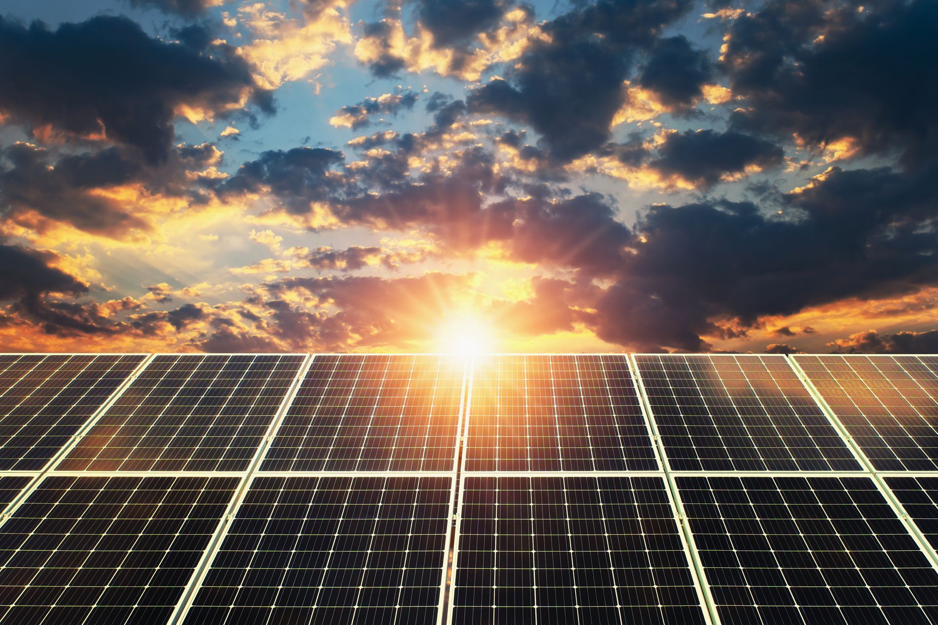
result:
<svg viewBox="0 0 938 625"><path fill-rule="evenodd" d="M687 37L659 39L642 68L639 83L658 94L668 107L682 107L700 97L701 88L713 78L705 52L694 50Z"/></svg>

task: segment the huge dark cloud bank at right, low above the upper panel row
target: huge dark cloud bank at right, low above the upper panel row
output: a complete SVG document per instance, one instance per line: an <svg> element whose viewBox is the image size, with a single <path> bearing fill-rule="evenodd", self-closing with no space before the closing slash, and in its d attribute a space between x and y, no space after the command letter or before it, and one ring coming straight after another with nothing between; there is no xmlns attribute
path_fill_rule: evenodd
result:
<svg viewBox="0 0 938 625"><path fill-rule="evenodd" d="M703 350L703 335L764 315L938 284L938 176L828 171L775 216L755 204L652 206L622 277L596 306L597 334L643 349Z"/></svg>

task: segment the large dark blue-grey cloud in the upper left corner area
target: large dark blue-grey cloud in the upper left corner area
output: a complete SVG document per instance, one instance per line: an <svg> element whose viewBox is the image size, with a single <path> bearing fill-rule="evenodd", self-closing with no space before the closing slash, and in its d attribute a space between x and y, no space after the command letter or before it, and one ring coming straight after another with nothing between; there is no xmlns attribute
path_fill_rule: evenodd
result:
<svg viewBox="0 0 938 625"><path fill-rule="evenodd" d="M150 163L169 157L181 105L224 114L249 96L272 111L269 94L254 86L234 48L165 43L123 17L54 31L0 18L0 84L0 112L14 120L74 138L103 133L140 149Z"/></svg>

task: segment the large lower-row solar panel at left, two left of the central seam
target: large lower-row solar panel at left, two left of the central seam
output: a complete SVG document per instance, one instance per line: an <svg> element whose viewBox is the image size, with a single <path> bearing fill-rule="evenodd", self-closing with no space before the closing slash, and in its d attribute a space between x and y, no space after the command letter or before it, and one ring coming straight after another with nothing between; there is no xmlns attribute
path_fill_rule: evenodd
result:
<svg viewBox="0 0 938 625"><path fill-rule="evenodd" d="M0 623L161 623L237 478L46 477L0 526Z"/></svg>

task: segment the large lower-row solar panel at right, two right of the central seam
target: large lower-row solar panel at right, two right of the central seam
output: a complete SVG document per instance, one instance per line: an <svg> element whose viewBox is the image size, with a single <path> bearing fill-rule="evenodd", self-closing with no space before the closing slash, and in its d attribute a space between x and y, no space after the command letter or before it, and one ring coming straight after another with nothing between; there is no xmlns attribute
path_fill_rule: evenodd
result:
<svg viewBox="0 0 938 625"><path fill-rule="evenodd" d="M938 622L938 573L865 477L678 477L720 620Z"/></svg>

